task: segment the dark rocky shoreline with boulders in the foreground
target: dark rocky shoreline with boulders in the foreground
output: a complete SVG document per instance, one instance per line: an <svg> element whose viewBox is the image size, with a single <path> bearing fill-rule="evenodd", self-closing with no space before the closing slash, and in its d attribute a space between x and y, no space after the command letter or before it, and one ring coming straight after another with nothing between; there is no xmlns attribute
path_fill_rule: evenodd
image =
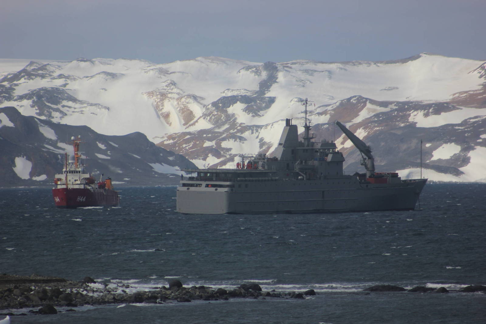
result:
<svg viewBox="0 0 486 324"><path fill-rule="evenodd" d="M243 284L234 289L211 288L205 286L184 287L179 280L168 282L169 287L153 287L150 290L137 290L130 285L100 284L92 278L85 277L82 281L69 281L58 277L39 275L17 276L0 275L0 315L16 315L12 312L1 312L7 309L36 308L28 314L56 314L56 307L69 307L67 311L75 311L75 307L85 305L152 303L164 304L173 302L191 302L196 300L217 301L229 298L297 298L315 295L313 289L305 292L262 291L258 284ZM391 285L378 285L363 290L363 293L380 291L409 291L422 293L448 293L441 288L423 286L405 289ZM486 286L468 286L459 292L483 292Z"/></svg>

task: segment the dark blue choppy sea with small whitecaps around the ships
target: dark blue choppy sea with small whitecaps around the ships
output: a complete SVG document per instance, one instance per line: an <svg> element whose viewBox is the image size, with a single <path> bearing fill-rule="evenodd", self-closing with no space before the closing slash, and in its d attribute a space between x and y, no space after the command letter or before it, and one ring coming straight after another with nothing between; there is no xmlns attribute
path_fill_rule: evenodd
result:
<svg viewBox="0 0 486 324"><path fill-rule="evenodd" d="M56 209L50 189L1 189L0 272L317 295L83 306L11 323L486 322L486 294L457 292L486 285L486 184L427 184L416 211L304 215L183 215L175 187L118 189L119 208L75 210ZM378 284L452 292L361 292Z"/></svg>

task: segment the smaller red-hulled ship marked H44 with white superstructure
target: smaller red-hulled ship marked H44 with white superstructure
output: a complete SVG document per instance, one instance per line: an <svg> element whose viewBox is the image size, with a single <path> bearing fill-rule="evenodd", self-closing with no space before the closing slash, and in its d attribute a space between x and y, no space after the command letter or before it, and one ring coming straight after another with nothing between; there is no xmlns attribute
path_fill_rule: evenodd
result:
<svg viewBox="0 0 486 324"><path fill-rule="evenodd" d="M80 163L79 144L81 139L72 137L74 156L64 153L64 169L62 174L56 174L52 188L52 196L57 208L76 208L91 206L115 207L120 204L118 192L113 190L111 178L96 182L89 173L85 173L84 165ZM103 175L102 175L103 177Z"/></svg>

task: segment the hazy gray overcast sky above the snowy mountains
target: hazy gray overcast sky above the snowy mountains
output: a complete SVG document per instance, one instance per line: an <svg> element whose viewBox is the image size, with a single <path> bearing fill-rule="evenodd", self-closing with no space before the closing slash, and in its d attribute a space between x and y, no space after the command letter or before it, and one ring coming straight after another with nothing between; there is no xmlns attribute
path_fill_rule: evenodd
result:
<svg viewBox="0 0 486 324"><path fill-rule="evenodd" d="M486 0L0 0L0 58L486 60Z"/></svg>

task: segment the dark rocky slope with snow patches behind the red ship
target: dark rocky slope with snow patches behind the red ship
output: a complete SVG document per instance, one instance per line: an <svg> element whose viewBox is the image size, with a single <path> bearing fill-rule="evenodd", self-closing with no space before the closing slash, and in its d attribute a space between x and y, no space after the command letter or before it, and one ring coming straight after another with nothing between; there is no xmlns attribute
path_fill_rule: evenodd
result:
<svg viewBox="0 0 486 324"><path fill-rule="evenodd" d="M23 116L14 107L0 108L0 187L50 186L62 173L64 152L73 154L72 136L80 135L82 162L96 178L103 173L120 185L169 185L179 180L180 167L195 167L134 132L98 134L88 126L70 126ZM177 175L176 175L177 174Z"/></svg>

